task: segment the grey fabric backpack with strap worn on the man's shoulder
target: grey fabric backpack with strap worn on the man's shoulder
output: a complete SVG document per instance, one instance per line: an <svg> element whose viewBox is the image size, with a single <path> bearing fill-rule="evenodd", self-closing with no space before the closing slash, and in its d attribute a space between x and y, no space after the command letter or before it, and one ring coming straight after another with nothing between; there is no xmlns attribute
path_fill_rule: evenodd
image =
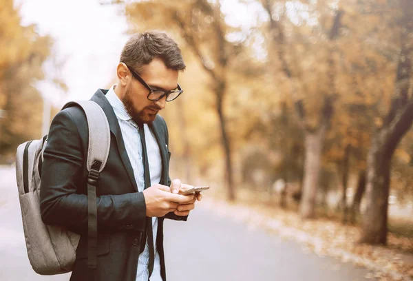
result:
<svg viewBox="0 0 413 281"><path fill-rule="evenodd" d="M88 196L88 267L96 269L97 207L96 182L109 155L109 123L102 107L94 101L70 102L63 106L81 107L89 127L87 149ZM16 178L23 230L30 264L36 273L54 275L72 271L80 236L63 227L45 225L40 212L40 183L43 152L47 136L19 145L16 155ZM96 164L100 163L100 167ZM94 165L95 164L95 165ZM93 167L92 167L93 166ZM97 165L99 166L99 165ZM52 171L48 171L52 172Z"/></svg>

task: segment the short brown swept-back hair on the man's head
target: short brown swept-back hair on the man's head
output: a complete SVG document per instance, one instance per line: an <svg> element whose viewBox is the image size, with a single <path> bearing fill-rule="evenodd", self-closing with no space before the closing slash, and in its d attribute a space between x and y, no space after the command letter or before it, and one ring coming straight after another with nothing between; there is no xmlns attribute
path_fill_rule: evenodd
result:
<svg viewBox="0 0 413 281"><path fill-rule="evenodd" d="M120 54L120 62L134 68L138 74L155 58L162 59L171 70L184 70L186 67L178 44L160 31L134 34Z"/></svg>

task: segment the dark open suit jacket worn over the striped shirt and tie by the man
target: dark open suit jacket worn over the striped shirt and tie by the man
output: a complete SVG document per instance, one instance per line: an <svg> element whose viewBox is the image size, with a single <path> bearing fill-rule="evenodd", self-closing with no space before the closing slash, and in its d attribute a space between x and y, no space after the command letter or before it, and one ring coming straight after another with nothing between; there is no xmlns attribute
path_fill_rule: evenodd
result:
<svg viewBox="0 0 413 281"><path fill-rule="evenodd" d="M92 101L103 108L111 131L110 152L96 187L98 206L98 280L136 280L140 241L145 231L145 198L138 192L120 127L107 90L98 90ZM160 148L160 184L170 185L167 125L161 116L150 125ZM88 129L81 108L57 114L50 127L41 176L41 216L47 225L67 227L81 234L70 280L87 280L87 169ZM187 220L169 213L166 218ZM158 220L157 247L161 275L166 280L163 219Z"/></svg>

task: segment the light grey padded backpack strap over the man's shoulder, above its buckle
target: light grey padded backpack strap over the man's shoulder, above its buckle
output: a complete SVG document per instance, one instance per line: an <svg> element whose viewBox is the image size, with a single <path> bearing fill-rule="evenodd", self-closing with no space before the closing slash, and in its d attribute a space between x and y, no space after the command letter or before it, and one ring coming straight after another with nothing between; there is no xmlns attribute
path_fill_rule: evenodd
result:
<svg viewBox="0 0 413 281"><path fill-rule="evenodd" d="M105 112L102 107L94 101L71 101L66 103L62 110L67 107L78 106L86 114L87 127L89 127L89 145L87 147L87 171L97 168L98 172L103 170L109 156L110 129ZM100 167L96 166L96 161Z"/></svg>

